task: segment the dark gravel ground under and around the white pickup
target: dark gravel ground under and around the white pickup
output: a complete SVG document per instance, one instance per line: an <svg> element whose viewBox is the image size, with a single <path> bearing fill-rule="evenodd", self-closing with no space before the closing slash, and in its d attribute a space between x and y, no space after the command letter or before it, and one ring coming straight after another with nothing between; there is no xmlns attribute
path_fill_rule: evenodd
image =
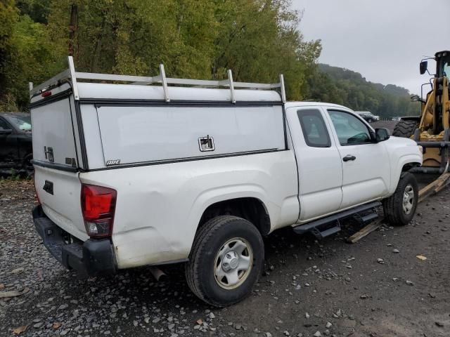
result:
<svg viewBox="0 0 450 337"><path fill-rule="evenodd" d="M352 221L320 242L275 232L250 298L217 309L181 265L159 283L148 267L89 279L63 269L34 232L32 184L0 180L0 296L20 294L0 297L0 336L450 336L449 200L447 187L410 225L356 244L345 243Z"/></svg>

